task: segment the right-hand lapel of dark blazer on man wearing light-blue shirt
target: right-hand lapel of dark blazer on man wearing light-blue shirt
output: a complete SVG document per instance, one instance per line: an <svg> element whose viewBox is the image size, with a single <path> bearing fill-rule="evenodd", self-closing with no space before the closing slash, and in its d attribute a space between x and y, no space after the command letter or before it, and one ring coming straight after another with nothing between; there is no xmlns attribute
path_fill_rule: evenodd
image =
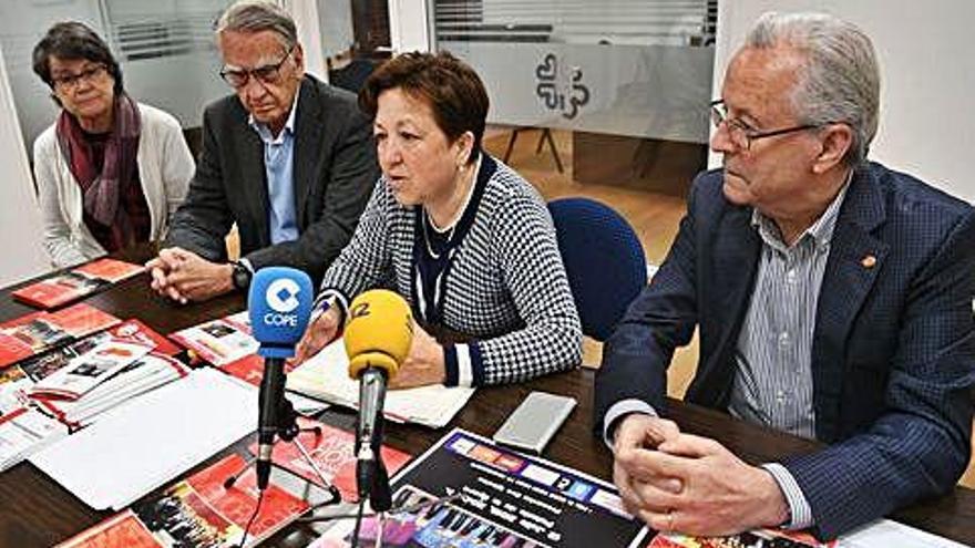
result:
<svg viewBox="0 0 975 548"><path fill-rule="evenodd" d="M295 211L298 216L298 227L304 229L308 225L308 194L315 187L315 177L318 175L316 166L321 159L321 99L320 90L316 82L308 76L301 81L298 95L298 113L295 116Z"/></svg>

